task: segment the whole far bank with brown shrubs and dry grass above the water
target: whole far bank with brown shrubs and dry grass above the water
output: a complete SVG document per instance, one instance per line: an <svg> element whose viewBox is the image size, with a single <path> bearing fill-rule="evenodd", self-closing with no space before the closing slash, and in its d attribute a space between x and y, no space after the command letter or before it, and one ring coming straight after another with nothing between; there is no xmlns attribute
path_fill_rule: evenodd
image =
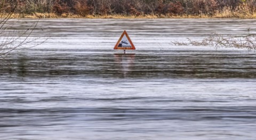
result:
<svg viewBox="0 0 256 140"><path fill-rule="evenodd" d="M3 0L14 18L256 18L255 0Z"/></svg>

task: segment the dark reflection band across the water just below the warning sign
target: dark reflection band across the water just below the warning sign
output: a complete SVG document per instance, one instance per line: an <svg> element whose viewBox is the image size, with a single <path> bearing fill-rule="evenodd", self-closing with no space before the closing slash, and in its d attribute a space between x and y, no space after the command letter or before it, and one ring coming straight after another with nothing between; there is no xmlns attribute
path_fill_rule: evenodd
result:
<svg viewBox="0 0 256 140"><path fill-rule="evenodd" d="M43 52L43 55L42 55ZM255 78L255 55L237 51L112 51L34 50L22 52L6 61L18 76L141 77L141 78Z"/></svg>

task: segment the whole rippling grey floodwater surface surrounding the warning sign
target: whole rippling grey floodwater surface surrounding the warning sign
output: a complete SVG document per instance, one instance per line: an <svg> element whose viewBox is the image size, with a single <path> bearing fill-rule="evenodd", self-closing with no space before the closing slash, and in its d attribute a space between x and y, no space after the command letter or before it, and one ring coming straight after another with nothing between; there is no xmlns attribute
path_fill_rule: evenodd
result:
<svg viewBox="0 0 256 140"><path fill-rule="evenodd" d="M10 20L8 30L37 20ZM256 53L175 46L241 19L41 19L1 60L0 139L255 139ZM126 30L136 51L114 51Z"/></svg>

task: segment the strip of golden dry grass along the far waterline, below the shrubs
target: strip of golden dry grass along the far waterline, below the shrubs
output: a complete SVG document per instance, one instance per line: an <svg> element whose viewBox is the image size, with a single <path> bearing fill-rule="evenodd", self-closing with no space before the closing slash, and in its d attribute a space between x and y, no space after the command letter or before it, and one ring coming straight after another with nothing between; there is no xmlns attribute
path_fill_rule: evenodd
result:
<svg viewBox="0 0 256 140"><path fill-rule="evenodd" d="M8 14L1 14L2 18ZM13 13L11 18L80 18L80 19L158 19L158 18L243 18L243 19L255 19L256 11L252 12L246 8L239 7L239 9L232 10L229 7L223 8L221 11L217 11L214 14L74 14L74 13Z"/></svg>

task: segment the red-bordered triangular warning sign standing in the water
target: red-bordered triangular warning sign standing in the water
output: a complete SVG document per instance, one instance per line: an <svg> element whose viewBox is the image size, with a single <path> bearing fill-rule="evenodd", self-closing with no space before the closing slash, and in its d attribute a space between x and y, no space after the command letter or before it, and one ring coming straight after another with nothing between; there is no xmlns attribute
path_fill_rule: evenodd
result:
<svg viewBox="0 0 256 140"><path fill-rule="evenodd" d="M114 49L135 50L132 40L130 39L126 31L123 32L118 42L116 43L116 46L114 47Z"/></svg>

